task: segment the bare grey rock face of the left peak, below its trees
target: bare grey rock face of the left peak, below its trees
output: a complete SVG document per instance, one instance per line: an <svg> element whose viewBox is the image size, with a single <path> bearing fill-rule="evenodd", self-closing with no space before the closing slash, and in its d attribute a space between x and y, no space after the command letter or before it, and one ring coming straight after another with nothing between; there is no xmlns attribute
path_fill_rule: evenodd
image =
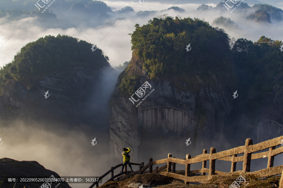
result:
<svg viewBox="0 0 283 188"><path fill-rule="evenodd" d="M10 79L5 83L0 97L0 118L5 123L15 118L24 120L52 120L69 125L87 122L84 115L90 86L102 70L90 72L87 66L76 66L72 72L43 76L32 79L29 84ZM45 92L49 97L45 98ZM48 96L48 95L47 95ZM75 120L75 121L74 121Z"/></svg>

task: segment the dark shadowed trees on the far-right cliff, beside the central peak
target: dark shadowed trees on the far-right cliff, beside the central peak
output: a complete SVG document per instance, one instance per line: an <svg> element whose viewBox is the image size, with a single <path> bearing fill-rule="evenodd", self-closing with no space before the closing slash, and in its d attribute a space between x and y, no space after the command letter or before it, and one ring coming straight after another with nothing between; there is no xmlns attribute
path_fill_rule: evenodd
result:
<svg viewBox="0 0 283 188"><path fill-rule="evenodd" d="M239 101L241 112L250 117L249 125L256 125L258 110L264 98L273 92L283 92L283 53L282 41L262 36L253 43L247 39L238 39L233 46L234 61L239 75L237 89L244 100Z"/></svg>

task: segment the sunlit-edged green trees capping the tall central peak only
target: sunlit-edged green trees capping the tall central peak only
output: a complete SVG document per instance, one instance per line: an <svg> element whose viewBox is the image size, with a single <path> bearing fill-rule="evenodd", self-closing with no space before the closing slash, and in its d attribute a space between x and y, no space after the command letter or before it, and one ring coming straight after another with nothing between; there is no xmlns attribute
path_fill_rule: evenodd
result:
<svg viewBox="0 0 283 188"><path fill-rule="evenodd" d="M215 77L223 84L232 85L229 78L235 75L230 39L222 29L212 28L197 18L166 17L153 18L142 27L136 24L131 36L132 50L137 50L152 80L170 79L180 90L191 92L199 89L197 76L214 89L217 88ZM185 49L188 44L191 44L189 52ZM126 79L119 88L130 94L127 89L130 85L125 83L130 82Z"/></svg>

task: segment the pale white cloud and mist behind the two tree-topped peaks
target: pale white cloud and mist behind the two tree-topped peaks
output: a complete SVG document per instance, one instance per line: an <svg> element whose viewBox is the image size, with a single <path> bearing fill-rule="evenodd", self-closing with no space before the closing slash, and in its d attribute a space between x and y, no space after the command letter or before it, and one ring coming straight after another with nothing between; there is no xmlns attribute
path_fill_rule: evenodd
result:
<svg viewBox="0 0 283 188"><path fill-rule="evenodd" d="M248 2L249 0L245 0ZM139 4L137 1L132 2L123 2L123 1L104 1L109 7L113 8L113 11L124 8L125 6L132 7L135 12L138 11L161 11L167 9L171 6L178 6L186 10L185 13L179 13L174 10L157 12L157 15L167 13L169 16L175 18L178 14L184 17L191 18L200 18L205 19L210 24L213 23L215 18L219 16L224 16L231 18L238 26L239 29L229 29L223 27L225 31L231 36L238 38L247 38L252 41L257 41L262 35L265 35L268 38L273 40L283 40L282 39L282 30L283 25L280 24L259 24L257 22L247 22L246 17L250 15L248 12L246 15L239 15L236 13L229 12L219 12L219 11L210 11L210 12L197 12L196 9L200 6L202 1L199 4L166 4L162 2L147 2ZM54 6L56 1L54 2ZM278 8L283 8L283 3L270 3L271 5L277 6ZM216 4L210 3L209 6L215 7ZM224 8L224 7L223 7ZM236 11L235 11L236 12ZM58 12L53 11L53 13L59 15ZM10 62L14 55L19 51L23 46L28 42L36 41L40 37L46 35L58 34L67 34L73 37L86 40L92 44L96 43L97 47L102 49L105 54L109 57L111 65L117 66L122 64L125 61L130 60L131 58L131 49L130 49L130 35L135 29L135 24L147 24L149 19L157 17L153 14L145 17L133 17L131 14L126 15L125 18L120 21L117 20L114 25L103 25L95 28L69 28L69 29L43 29L35 24L35 18L23 18L17 21L12 21L6 23L5 17L0 18L0 44L2 44L3 50L0 51L0 66L3 66ZM91 16L91 15L90 15ZM113 19L113 18L112 18ZM75 23L72 23L75 24ZM215 25L213 25L215 26ZM191 44L193 47L193 44Z"/></svg>

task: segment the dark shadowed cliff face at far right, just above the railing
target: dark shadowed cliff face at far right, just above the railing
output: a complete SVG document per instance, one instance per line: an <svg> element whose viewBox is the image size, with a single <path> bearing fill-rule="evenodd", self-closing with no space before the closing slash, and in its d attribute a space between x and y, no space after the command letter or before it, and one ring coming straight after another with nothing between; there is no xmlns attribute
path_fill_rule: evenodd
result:
<svg viewBox="0 0 283 188"><path fill-rule="evenodd" d="M231 140L239 140L237 144L243 145L246 138L252 138L253 144L257 144L283 134L283 92L280 86L282 81L282 76L275 76L273 85L270 85L272 89L261 98L255 97L253 87L248 88L246 97L241 97L239 93L237 98L239 104L235 102L231 111L231 116L236 116L236 118L226 122L227 134L230 135ZM256 94L262 92L256 92ZM252 109L250 106L254 104L257 106ZM249 114L244 113L247 111ZM252 118L249 118L249 115ZM228 130L228 125L232 129Z"/></svg>

